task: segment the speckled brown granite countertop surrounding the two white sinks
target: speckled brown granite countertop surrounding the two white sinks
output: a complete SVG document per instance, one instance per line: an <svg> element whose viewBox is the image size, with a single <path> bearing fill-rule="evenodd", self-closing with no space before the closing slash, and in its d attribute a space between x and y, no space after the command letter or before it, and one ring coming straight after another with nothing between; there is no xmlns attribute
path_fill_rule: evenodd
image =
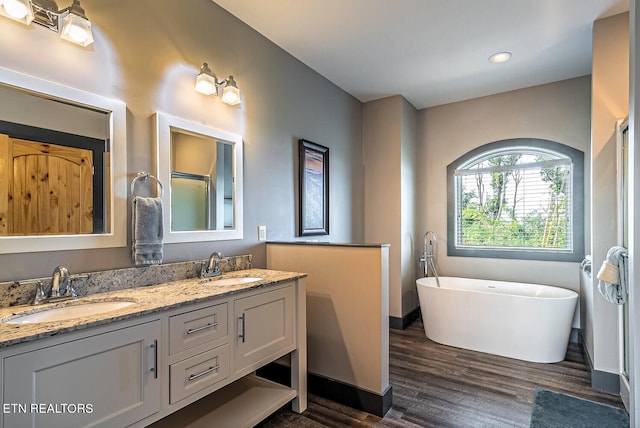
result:
<svg viewBox="0 0 640 428"><path fill-rule="evenodd" d="M296 272L282 272L266 269L246 269L229 272L217 277L200 279L190 278L179 281L166 282L125 290L96 293L59 303L49 303L41 306L11 306L0 308L0 320L14 314L40 312L47 308L57 308L88 302L132 301L135 305L117 309L103 314L74 318L65 321L52 321L33 324L8 324L0 321L0 348L22 342L58 335L89 327L95 327L140 317L143 315L177 308L192 303L204 302L230 296L246 290L268 287L285 281L305 277L306 274ZM215 281L225 278L259 277L259 281L233 285L215 285Z"/></svg>

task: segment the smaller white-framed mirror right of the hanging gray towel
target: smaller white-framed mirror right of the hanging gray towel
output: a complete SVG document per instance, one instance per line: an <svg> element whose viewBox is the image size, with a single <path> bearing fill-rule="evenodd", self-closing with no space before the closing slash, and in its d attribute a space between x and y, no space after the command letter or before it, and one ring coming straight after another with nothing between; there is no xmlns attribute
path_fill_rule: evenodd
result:
<svg viewBox="0 0 640 428"><path fill-rule="evenodd" d="M155 115L164 241L242 239L242 137Z"/></svg>

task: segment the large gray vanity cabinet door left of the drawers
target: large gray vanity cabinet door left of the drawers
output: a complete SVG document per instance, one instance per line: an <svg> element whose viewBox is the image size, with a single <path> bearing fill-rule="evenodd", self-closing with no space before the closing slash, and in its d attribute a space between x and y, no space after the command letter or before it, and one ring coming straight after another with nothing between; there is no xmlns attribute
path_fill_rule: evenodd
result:
<svg viewBox="0 0 640 428"><path fill-rule="evenodd" d="M8 357L4 427L127 426L160 409L160 321Z"/></svg>

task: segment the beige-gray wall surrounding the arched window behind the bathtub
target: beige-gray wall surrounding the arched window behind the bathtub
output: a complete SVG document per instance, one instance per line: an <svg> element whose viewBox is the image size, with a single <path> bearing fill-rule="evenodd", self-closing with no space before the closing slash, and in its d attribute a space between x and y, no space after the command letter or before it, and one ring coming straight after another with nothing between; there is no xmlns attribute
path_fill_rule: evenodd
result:
<svg viewBox="0 0 640 428"><path fill-rule="evenodd" d="M579 263L447 256L447 165L476 147L517 137L557 141L585 152L590 170L589 76L427 108L419 112L417 223L437 236L443 276L541 283L579 290ZM585 195L585 201L589 195ZM585 204L585 224L589 224ZM588 232L588 231L586 231ZM589 245L588 234L586 243ZM574 322L578 326L578 320Z"/></svg>

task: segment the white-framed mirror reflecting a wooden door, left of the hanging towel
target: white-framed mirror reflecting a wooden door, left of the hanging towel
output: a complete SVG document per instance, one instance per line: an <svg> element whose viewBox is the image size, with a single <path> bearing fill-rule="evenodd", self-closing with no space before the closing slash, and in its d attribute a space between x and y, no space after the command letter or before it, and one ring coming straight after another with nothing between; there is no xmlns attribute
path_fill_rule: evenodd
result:
<svg viewBox="0 0 640 428"><path fill-rule="evenodd" d="M126 246L126 106L0 68L0 254Z"/></svg>

